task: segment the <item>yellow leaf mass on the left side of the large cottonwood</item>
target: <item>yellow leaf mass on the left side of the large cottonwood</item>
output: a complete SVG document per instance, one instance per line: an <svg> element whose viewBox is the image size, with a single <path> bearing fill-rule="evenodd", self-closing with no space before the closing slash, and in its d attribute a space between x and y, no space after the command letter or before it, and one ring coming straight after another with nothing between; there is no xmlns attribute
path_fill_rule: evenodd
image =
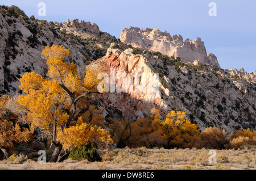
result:
<svg viewBox="0 0 256 181"><path fill-rule="evenodd" d="M33 74L33 73L32 73ZM22 79L31 78L31 74L24 74ZM35 75L35 74L34 74ZM36 82L36 76L34 76ZM39 84L38 84L39 85ZM27 83L24 81L20 89L26 87ZM28 85L29 87L30 85ZM34 87L34 86L33 86ZM67 120L65 112L60 113L60 107L57 106L64 102L64 90L61 89L57 81L48 81L47 79L40 80L40 86L36 89L30 89L29 94L19 95L17 103L24 107L27 112L28 119L32 120L35 127L47 129L48 124L54 123L54 114L58 118L61 125ZM64 119L66 119L64 121Z"/></svg>

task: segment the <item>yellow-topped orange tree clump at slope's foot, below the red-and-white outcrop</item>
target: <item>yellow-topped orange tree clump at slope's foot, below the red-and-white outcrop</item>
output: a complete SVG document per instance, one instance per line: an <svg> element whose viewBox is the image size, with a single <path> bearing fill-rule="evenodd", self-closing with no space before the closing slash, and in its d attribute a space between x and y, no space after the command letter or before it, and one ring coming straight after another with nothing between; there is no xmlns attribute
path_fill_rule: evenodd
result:
<svg viewBox="0 0 256 181"><path fill-rule="evenodd" d="M149 117L131 123L131 135L126 144L129 146L174 146L188 145L199 134L195 124L185 120L185 112L171 111L166 120L160 120L159 111L153 108ZM129 132L129 129L126 130Z"/></svg>

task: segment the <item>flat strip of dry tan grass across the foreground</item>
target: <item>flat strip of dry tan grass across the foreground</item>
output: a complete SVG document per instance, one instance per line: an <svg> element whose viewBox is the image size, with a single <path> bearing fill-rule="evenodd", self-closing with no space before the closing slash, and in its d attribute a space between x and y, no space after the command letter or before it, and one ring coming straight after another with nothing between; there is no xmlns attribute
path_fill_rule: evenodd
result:
<svg viewBox="0 0 256 181"><path fill-rule="evenodd" d="M196 169L251 169L256 168L255 148L238 150L216 150L217 163L210 164L209 149L105 149L98 150L102 156L102 162L73 161L67 159L61 163L40 164L24 156L12 157L9 160L0 161L0 169L15 170L112 170L112 169L136 169L136 170L196 170Z"/></svg>

